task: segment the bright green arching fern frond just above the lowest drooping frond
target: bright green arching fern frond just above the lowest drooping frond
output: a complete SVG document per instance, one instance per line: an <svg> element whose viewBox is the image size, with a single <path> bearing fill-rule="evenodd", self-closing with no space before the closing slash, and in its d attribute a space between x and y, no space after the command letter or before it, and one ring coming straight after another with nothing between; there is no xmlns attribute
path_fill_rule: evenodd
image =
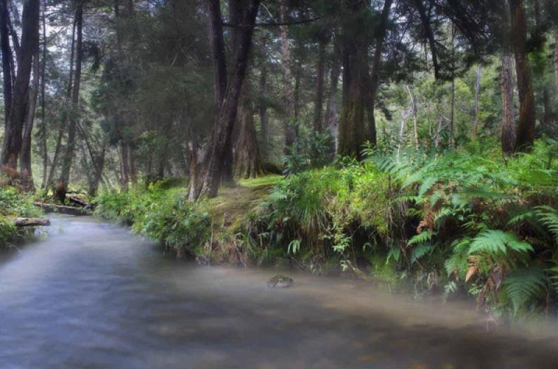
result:
<svg viewBox="0 0 558 369"><path fill-rule="evenodd" d="M506 255L510 250L519 253L534 251L533 246L529 242L520 241L513 233L488 229L474 237L469 247L469 254L489 253L492 255Z"/></svg>

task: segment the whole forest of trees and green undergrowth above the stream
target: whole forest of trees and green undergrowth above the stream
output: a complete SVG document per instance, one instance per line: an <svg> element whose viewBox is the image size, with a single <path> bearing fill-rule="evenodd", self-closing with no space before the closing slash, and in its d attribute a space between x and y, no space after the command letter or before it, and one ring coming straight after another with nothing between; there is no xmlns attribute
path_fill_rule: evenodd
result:
<svg viewBox="0 0 558 369"><path fill-rule="evenodd" d="M91 201L179 258L555 311L557 11L0 0L0 239Z"/></svg>

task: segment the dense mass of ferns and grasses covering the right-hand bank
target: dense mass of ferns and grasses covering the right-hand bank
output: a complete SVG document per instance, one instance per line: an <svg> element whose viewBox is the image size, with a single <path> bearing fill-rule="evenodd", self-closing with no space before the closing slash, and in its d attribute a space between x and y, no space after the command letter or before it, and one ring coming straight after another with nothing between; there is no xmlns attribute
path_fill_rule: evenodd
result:
<svg viewBox="0 0 558 369"><path fill-rule="evenodd" d="M252 248L316 272L339 258L417 295L474 296L495 313L550 307L558 281L555 141L505 160L478 148L366 153L368 162L280 182L250 223Z"/></svg>

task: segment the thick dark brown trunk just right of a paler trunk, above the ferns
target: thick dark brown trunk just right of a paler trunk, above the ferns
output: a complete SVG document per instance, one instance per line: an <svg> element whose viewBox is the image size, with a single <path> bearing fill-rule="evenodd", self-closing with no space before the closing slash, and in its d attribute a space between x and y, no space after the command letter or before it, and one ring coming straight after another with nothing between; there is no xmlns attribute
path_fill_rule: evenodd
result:
<svg viewBox="0 0 558 369"><path fill-rule="evenodd" d="M513 27L511 42L518 76L520 112L515 140L515 151L528 150L535 139L535 96L531 81L531 67L527 56L527 17L523 0L509 0Z"/></svg>

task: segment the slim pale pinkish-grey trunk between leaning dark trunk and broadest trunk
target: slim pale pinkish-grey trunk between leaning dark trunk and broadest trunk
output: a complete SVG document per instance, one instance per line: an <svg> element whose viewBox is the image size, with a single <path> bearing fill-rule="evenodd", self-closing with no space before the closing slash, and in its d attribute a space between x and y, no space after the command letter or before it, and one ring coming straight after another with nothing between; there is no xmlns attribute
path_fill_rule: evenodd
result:
<svg viewBox="0 0 558 369"><path fill-rule="evenodd" d="M287 6L285 0L280 5L280 22L284 24L287 19ZM296 141L296 127L294 121L294 96L291 81L291 47L289 45L288 26L279 26L281 37L281 68L283 70L283 99L285 102L285 153L286 148Z"/></svg>

